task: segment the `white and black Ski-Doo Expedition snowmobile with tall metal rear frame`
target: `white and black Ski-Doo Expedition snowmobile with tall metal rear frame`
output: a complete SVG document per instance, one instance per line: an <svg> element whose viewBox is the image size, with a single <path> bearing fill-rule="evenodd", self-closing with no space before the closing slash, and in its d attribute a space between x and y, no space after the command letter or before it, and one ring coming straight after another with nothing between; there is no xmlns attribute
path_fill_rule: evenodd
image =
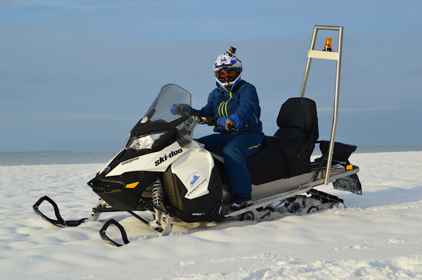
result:
<svg viewBox="0 0 422 280"><path fill-rule="evenodd" d="M339 31L336 53L339 67L342 27L316 26L314 33L317 28ZM229 192L221 149L208 151L193 139L198 124L216 126L216 117L194 115L190 109L173 114L170 108L174 104L187 104L190 108L191 95L175 84L167 84L131 130L122 150L88 182L99 196L99 203L89 218L64 221L57 204L48 196L41 197L33 205L33 210L44 220L60 227L95 221L103 212L124 211L150 226L158 236L165 236L172 230L172 219L187 223L260 220L273 211L309 213L342 206L343 200L339 197L314 189L330 182L335 189L362 194L357 176L359 167L348 160L357 147L334 142L338 87L330 140L318 141L316 104L303 96L314 37L316 35L308 55L301 96L290 98L281 106L276 120L278 130L273 136L264 137L257 154L246 158L252 181L252 205L238 211L231 210L233 197ZM329 57L333 57L332 53ZM339 69L337 73L336 85ZM311 162L317 143L322 157ZM39 210L44 201L52 204L56 219ZM135 211L148 211L153 219L142 217ZM112 224L120 229L123 243L129 243L124 228L114 219L100 229L101 238L109 244L122 245L106 234Z"/></svg>

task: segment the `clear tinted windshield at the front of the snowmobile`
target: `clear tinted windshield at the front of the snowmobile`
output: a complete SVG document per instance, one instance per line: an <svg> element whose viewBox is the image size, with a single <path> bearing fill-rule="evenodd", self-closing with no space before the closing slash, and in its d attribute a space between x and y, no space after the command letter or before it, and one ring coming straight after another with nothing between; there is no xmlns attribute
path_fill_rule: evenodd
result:
<svg viewBox="0 0 422 280"><path fill-rule="evenodd" d="M141 122L164 121L170 123L181 118L184 120L184 116L190 115L190 98L190 93L180 86L166 84L161 88L160 93ZM181 105L180 107L183 110L178 110L178 113L174 114L171 108L177 105Z"/></svg>

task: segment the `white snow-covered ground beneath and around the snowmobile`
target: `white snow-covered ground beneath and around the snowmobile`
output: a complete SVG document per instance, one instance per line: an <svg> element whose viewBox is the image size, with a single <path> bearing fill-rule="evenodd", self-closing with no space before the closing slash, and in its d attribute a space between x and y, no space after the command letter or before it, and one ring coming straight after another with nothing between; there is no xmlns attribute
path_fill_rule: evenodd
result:
<svg viewBox="0 0 422 280"><path fill-rule="evenodd" d="M102 214L100 220L114 218L125 227L130 243L120 248L100 238L104 222L58 228L32 211L48 195L65 219L87 217L98 198L86 183L102 164L1 166L1 278L422 278L422 152L350 160L361 168L362 196L318 188L343 198L347 208L274 213L259 223L173 221L165 237L154 237L127 213Z"/></svg>

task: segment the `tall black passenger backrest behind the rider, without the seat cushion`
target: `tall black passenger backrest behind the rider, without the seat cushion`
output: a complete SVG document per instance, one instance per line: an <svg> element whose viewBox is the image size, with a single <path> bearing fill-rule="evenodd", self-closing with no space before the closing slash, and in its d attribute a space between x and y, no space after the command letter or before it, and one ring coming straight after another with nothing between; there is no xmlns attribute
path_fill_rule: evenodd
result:
<svg viewBox="0 0 422 280"><path fill-rule="evenodd" d="M315 102L305 97L289 98L280 108L277 126L274 138L283 150L299 161L308 160L319 137Z"/></svg>

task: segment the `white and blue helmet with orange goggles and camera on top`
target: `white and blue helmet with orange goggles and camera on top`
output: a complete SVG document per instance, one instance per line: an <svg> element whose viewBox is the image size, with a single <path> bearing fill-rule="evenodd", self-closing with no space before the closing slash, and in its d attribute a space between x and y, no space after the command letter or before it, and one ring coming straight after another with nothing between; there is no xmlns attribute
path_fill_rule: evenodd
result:
<svg viewBox="0 0 422 280"><path fill-rule="evenodd" d="M234 55L236 49L229 48L229 51L215 60L214 71L215 79L226 91L231 91L242 79L242 63Z"/></svg>

